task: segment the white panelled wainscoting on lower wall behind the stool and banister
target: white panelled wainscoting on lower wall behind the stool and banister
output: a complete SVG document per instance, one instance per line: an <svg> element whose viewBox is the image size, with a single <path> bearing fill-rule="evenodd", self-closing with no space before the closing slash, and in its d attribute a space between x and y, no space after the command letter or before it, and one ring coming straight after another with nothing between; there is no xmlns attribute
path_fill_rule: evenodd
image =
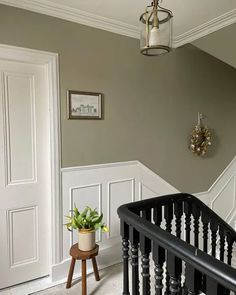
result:
<svg viewBox="0 0 236 295"><path fill-rule="evenodd" d="M231 224L236 217L235 173L236 158L207 192L195 194ZM73 209L74 203L81 209L88 205L103 212L104 221L109 226L109 233L98 232L96 236L100 245L100 268L121 261L117 208L124 203L172 193L178 193L178 190L139 161L62 169L63 216ZM66 277L70 263L68 251L76 241L76 231L70 233L63 227L63 261L53 266L53 281ZM80 265L77 264L76 272L80 276ZM91 265L88 271L91 271Z"/></svg>

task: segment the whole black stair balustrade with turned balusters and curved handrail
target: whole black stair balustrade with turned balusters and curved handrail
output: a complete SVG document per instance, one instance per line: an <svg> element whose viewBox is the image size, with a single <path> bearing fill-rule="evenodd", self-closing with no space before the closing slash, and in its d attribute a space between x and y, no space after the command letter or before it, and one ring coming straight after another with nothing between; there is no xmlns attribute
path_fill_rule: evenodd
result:
<svg viewBox="0 0 236 295"><path fill-rule="evenodd" d="M236 294L236 232L199 199L167 195L123 205L118 215L123 295Z"/></svg>

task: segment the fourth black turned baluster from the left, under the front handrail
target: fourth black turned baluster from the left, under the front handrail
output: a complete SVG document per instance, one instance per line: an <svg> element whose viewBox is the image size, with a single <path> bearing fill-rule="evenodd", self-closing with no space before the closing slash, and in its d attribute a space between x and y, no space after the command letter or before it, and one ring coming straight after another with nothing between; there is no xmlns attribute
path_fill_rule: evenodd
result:
<svg viewBox="0 0 236 295"><path fill-rule="evenodd" d="M165 262L165 250L153 242L153 261L155 264L155 295L163 294L163 264Z"/></svg>

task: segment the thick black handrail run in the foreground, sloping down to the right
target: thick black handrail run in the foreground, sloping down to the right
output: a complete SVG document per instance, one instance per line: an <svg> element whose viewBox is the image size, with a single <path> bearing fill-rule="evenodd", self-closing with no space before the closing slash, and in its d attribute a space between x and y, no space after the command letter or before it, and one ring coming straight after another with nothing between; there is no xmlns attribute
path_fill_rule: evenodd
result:
<svg viewBox="0 0 236 295"><path fill-rule="evenodd" d="M156 227L131 212L126 205L118 209L118 214L121 219L133 226L137 231L145 232L145 236L150 240L158 242L164 249L170 250L177 257L192 264L195 268L219 281L232 291L236 291L236 269Z"/></svg>

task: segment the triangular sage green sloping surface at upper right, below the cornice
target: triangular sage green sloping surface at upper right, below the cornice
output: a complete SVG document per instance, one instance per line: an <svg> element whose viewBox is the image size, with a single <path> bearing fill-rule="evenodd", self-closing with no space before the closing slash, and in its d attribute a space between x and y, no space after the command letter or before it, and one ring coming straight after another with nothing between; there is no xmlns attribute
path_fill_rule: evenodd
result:
<svg viewBox="0 0 236 295"><path fill-rule="evenodd" d="M236 23L196 40L193 44L236 68Z"/></svg>

